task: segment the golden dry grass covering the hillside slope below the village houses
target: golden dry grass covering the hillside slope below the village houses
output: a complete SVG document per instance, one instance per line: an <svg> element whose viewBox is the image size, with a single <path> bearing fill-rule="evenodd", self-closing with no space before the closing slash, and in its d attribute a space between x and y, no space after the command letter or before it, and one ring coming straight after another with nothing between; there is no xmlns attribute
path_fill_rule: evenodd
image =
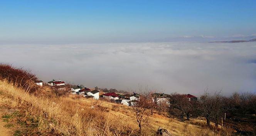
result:
<svg viewBox="0 0 256 136"><path fill-rule="evenodd" d="M25 115L36 116L38 119L36 131L41 134L67 136L132 136L138 134L138 126L129 106L79 98L75 95L57 99L47 93L42 94L29 95L4 80L0 81L0 106L22 109ZM180 122L177 119L153 114L150 124L143 128L143 135L155 135L159 126L175 136L221 135L201 127L203 125L198 125L204 123L198 119Z"/></svg>

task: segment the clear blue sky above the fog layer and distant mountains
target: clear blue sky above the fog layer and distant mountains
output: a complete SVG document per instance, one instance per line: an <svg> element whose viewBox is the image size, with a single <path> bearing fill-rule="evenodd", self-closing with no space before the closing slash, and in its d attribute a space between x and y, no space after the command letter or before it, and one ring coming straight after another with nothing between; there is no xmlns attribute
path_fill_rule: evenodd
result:
<svg viewBox="0 0 256 136"><path fill-rule="evenodd" d="M133 42L256 34L255 0L5 0L0 41Z"/></svg>

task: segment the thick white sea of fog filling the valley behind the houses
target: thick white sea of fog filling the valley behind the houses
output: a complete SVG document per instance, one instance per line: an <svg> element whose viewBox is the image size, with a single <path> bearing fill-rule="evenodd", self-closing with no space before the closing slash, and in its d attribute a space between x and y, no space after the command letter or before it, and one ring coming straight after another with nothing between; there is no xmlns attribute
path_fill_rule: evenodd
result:
<svg viewBox="0 0 256 136"><path fill-rule="evenodd" d="M0 45L0 63L29 68L44 82L200 95L256 91L256 42Z"/></svg>

